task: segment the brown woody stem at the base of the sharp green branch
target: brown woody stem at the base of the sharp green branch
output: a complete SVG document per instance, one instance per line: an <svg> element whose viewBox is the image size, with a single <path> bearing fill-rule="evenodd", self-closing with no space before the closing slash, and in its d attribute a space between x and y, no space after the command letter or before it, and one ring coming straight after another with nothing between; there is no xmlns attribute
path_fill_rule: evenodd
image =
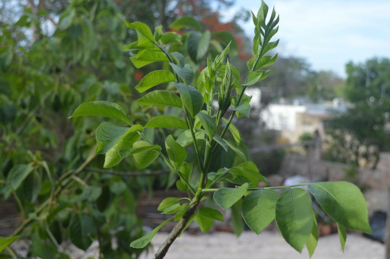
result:
<svg viewBox="0 0 390 259"><path fill-rule="evenodd" d="M169 247L172 245L172 243L176 240L177 236L183 231L183 229L186 227L186 224L188 220L191 218L191 216L195 213L196 207L199 203L194 203L188 208L187 212L184 214L183 218L177 222L176 226L172 229L172 231L169 233L169 236L164 241L162 245L158 248L156 254L154 255L153 259L162 259L165 257L165 254L167 254Z"/></svg>

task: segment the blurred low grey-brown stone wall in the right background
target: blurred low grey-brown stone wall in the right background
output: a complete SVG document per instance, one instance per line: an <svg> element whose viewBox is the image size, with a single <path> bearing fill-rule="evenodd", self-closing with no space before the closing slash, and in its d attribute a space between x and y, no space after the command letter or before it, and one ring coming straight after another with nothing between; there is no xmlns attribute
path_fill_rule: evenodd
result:
<svg viewBox="0 0 390 259"><path fill-rule="evenodd" d="M280 167L279 174L286 176L301 175L312 181L345 181L351 180L346 174L347 164L312 160L295 154L287 154ZM381 153L375 170L359 169L356 184L364 188L364 196L369 211L387 210L388 189L390 187L390 153Z"/></svg>

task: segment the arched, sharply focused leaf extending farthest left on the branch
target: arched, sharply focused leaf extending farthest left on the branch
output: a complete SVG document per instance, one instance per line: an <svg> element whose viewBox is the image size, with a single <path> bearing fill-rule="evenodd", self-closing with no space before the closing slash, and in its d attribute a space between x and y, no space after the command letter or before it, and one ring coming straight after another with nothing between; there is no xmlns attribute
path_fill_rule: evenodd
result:
<svg viewBox="0 0 390 259"><path fill-rule="evenodd" d="M121 106L107 101L86 102L74 110L72 116L69 118L88 115L110 117L133 125L133 122L131 122Z"/></svg>

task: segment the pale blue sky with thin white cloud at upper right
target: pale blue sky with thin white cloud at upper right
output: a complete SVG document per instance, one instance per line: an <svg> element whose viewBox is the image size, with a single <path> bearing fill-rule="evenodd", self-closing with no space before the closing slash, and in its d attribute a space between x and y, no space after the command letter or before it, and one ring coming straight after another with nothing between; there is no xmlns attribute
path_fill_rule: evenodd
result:
<svg viewBox="0 0 390 259"><path fill-rule="evenodd" d="M280 55L306 58L314 70L346 77L348 61L390 57L390 0L265 0L280 14ZM260 0L236 0L225 18L241 8L255 14ZM269 12L270 12L269 11ZM252 18L240 24L254 35Z"/></svg>

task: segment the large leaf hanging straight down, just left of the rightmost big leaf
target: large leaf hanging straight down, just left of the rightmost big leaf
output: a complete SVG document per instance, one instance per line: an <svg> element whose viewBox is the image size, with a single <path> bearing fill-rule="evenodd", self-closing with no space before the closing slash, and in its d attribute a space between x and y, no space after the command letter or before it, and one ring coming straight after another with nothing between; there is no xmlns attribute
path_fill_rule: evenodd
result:
<svg viewBox="0 0 390 259"><path fill-rule="evenodd" d="M287 243L301 252L313 229L312 201L307 192L301 188L285 189L279 195L275 218Z"/></svg>

